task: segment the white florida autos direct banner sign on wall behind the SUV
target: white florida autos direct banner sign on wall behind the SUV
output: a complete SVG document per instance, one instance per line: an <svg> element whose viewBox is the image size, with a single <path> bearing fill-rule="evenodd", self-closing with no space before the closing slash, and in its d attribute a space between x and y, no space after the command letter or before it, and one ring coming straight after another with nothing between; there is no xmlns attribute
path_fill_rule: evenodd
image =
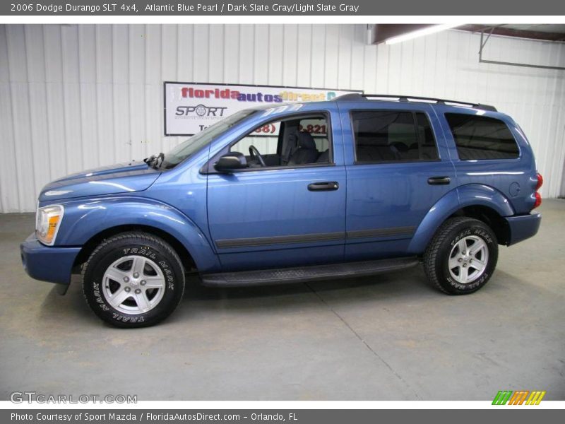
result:
<svg viewBox="0 0 565 424"><path fill-rule="evenodd" d="M319 102L357 90L167 81L165 136L191 136L239 110L287 102Z"/></svg>

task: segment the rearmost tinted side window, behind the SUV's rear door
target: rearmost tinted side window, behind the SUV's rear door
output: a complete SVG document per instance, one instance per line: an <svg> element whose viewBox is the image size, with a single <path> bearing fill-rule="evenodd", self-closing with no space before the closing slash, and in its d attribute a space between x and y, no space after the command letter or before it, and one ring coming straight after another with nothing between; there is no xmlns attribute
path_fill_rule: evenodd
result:
<svg viewBox="0 0 565 424"><path fill-rule="evenodd" d="M460 160L516 159L520 154L510 129L500 119L446 113Z"/></svg>

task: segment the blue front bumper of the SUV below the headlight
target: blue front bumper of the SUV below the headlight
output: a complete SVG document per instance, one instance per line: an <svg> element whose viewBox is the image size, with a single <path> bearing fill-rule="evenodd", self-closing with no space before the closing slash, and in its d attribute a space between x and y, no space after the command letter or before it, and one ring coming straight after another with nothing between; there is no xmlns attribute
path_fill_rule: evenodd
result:
<svg viewBox="0 0 565 424"><path fill-rule="evenodd" d="M49 283L69 284L80 247L42 245L35 234L20 245L23 269L31 278Z"/></svg>

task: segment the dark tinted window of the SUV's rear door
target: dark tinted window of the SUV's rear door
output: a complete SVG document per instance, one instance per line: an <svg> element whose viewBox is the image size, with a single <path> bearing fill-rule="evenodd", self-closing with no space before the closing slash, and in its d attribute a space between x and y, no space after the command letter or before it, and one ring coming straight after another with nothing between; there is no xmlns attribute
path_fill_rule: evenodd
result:
<svg viewBox="0 0 565 424"><path fill-rule="evenodd" d="M355 111L352 122L357 163L438 159L432 128L422 112Z"/></svg>

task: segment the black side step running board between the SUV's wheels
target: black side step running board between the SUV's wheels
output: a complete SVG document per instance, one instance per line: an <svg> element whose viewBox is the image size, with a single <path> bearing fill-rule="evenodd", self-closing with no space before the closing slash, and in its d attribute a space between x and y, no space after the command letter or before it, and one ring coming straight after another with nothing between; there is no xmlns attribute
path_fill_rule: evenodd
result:
<svg viewBox="0 0 565 424"><path fill-rule="evenodd" d="M201 280L203 285L211 287L304 283L316 280L370 276L376 273L410 268L418 263L417 257L379 259L376 261L300 266L297 268L209 273L201 275Z"/></svg>

